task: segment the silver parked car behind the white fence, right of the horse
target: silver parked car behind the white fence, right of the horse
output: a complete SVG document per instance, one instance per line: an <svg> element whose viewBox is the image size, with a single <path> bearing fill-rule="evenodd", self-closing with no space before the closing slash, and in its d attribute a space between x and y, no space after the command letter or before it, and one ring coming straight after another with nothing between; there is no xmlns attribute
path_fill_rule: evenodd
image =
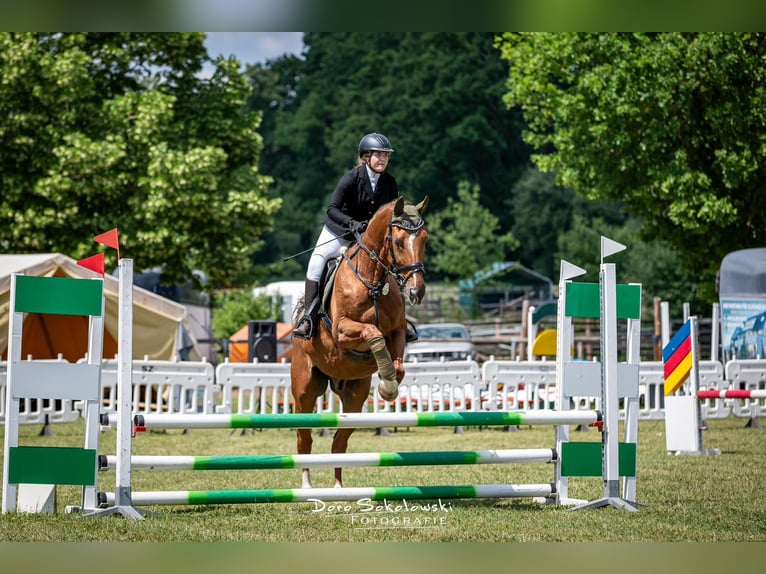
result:
<svg viewBox="0 0 766 574"><path fill-rule="evenodd" d="M462 323L425 323L418 326L418 340L408 343L405 361L475 361L478 353L471 333Z"/></svg>

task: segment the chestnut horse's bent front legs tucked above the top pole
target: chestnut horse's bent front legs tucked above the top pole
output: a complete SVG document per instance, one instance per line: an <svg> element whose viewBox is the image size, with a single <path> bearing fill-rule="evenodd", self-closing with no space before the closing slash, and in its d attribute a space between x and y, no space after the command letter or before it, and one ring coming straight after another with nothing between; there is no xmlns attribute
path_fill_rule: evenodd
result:
<svg viewBox="0 0 766 574"><path fill-rule="evenodd" d="M380 378L378 392L386 401L395 400L399 392L399 383L404 378L402 356L406 331L392 332L387 345L386 338L374 325L343 318L338 321L336 338L340 346L346 350L372 351Z"/></svg>

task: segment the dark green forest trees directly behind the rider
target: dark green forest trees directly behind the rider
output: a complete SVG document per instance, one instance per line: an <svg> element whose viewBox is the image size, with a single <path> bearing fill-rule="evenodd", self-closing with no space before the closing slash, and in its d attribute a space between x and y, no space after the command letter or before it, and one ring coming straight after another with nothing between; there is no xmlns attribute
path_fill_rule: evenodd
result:
<svg viewBox="0 0 766 574"><path fill-rule="evenodd" d="M261 167L284 201L263 260L313 245L338 179L373 131L391 140L389 171L407 199L429 195L436 213L459 182L476 184L481 205L508 232L504 201L529 152L520 114L504 108L507 67L493 40L490 32L312 32L305 60L272 62L270 74L252 67L269 94L258 100L268 102Z"/></svg>

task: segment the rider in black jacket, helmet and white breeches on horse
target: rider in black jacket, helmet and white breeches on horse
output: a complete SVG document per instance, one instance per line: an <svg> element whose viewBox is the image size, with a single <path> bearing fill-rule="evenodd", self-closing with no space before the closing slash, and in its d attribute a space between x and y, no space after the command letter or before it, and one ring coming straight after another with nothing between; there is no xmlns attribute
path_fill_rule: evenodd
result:
<svg viewBox="0 0 766 574"><path fill-rule="evenodd" d="M325 263L340 254L355 234L361 234L367 222L381 205L399 196L396 179L386 171L394 149L388 138L376 132L359 141L359 159L355 168L343 175L330 198L322 231L306 269L303 295L303 316L293 330L293 336L310 339L314 336L319 310L319 279Z"/></svg>

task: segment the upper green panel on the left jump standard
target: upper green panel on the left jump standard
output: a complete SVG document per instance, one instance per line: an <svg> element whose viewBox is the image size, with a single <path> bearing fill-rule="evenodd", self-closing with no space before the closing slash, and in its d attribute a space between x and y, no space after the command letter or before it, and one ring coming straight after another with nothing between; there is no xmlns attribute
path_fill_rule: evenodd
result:
<svg viewBox="0 0 766 574"><path fill-rule="evenodd" d="M104 282L67 277L16 276L17 313L101 315Z"/></svg>

